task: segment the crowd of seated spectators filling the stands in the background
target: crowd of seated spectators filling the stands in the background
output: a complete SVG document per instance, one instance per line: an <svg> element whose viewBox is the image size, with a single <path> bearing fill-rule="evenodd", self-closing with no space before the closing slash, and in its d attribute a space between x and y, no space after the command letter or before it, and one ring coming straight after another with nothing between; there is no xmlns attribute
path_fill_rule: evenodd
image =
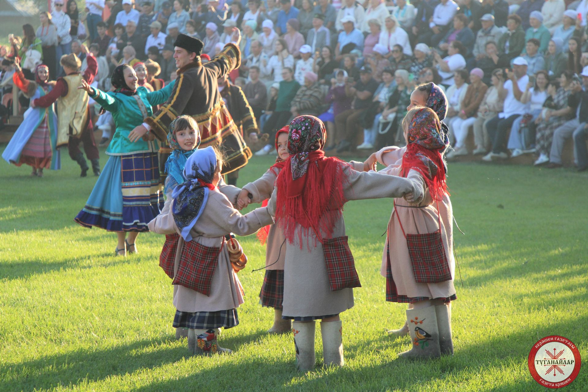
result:
<svg viewBox="0 0 588 392"><path fill-rule="evenodd" d="M99 63L96 83L112 69L144 63L143 85L176 76L173 42L200 38L213 58L242 32L242 65L230 80L243 86L269 140L293 116L327 125L327 150L344 152L403 143L399 124L419 83L435 82L449 101L448 159L483 155L489 162L536 153L536 165L562 165L574 140L588 167L588 0L55 0L39 25L24 25L0 48L2 103L9 105L11 59L35 51L60 76L61 55ZM206 56L203 56L206 57ZM26 68L25 66L23 68ZM29 67L29 70L31 68ZM239 79L236 81L236 79ZM467 147L473 130L475 148ZM256 154L273 151L269 143Z"/></svg>

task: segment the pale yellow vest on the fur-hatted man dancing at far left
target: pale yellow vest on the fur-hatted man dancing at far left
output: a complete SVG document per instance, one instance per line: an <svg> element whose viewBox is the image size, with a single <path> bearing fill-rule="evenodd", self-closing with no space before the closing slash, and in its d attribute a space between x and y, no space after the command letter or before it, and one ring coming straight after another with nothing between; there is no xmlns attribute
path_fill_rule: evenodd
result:
<svg viewBox="0 0 588 392"><path fill-rule="evenodd" d="M69 136L79 138L88 119L88 93L78 89L81 73L64 77L68 83L68 94L57 100L57 146L66 145Z"/></svg>

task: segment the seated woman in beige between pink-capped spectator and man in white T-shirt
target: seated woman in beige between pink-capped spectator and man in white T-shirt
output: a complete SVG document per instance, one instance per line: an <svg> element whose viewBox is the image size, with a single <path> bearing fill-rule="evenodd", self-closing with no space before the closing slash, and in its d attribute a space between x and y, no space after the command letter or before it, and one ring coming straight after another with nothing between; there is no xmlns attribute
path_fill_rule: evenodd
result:
<svg viewBox="0 0 588 392"><path fill-rule="evenodd" d="M486 123L495 118L498 113L502 112L504 106L504 99L498 95L498 86L504 84L502 78L502 69L495 69L492 71L490 78L490 88L486 91L480 108L477 112L474 126L474 143L476 149L473 150L473 155L485 155L490 147L490 139L486 130Z"/></svg>

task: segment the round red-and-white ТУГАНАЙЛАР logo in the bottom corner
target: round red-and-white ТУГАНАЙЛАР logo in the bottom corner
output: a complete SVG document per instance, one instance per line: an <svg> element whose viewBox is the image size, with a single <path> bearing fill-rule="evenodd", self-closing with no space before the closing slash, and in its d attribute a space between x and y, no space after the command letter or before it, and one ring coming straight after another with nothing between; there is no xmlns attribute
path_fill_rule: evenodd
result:
<svg viewBox="0 0 588 392"><path fill-rule="evenodd" d="M580 351L563 336L546 336L533 344L529 371L537 383L547 388L569 386L580 373Z"/></svg>

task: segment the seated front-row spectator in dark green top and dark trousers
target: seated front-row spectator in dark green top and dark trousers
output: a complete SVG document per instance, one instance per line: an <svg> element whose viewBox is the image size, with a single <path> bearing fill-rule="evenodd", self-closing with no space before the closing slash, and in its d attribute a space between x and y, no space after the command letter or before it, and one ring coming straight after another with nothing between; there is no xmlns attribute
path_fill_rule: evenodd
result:
<svg viewBox="0 0 588 392"><path fill-rule="evenodd" d="M288 120L292 117L290 112L290 104L296 96L296 92L300 88L298 82L293 79L294 72L292 68L284 67L282 69L282 76L280 79L280 88L278 91L278 99L276 100L276 110L268 118L263 125L263 133L269 135L268 140L276 140L276 132L284 125L288 124ZM255 155L268 155L275 149L275 146L266 145L263 149L255 153Z"/></svg>

